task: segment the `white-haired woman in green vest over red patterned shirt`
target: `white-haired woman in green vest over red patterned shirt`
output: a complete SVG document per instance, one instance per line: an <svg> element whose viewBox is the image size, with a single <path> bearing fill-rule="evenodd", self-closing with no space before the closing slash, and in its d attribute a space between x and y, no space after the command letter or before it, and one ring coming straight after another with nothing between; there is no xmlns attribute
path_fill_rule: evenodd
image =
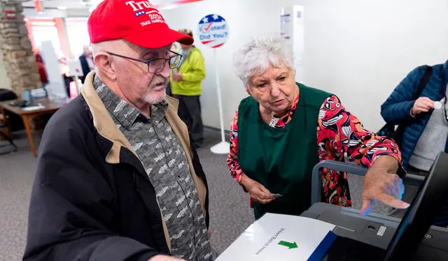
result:
<svg viewBox="0 0 448 261"><path fill-rule="evenodd" d="M404 209L393 140L365 130L337 96L295 83L293 52L281 38L256 38L235 53L237 76L249 94L230 131L230 173L248 191L255 218L266 212L300 215L309 207L311 170L323 160L370 167L363 208L375 200ZM322 173L323 200L351 206L346 173Z"/></svg>

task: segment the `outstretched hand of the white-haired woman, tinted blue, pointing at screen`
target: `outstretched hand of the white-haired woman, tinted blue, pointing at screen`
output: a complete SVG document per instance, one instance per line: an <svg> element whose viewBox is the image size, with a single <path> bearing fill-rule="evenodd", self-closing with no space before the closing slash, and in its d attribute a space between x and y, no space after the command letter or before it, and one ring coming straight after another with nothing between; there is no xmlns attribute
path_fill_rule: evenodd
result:
<svg viewBox="0 0 448 261"><path fill-rule="evenodd" d="M409 204L401 201L405 186L396 173L398 161L392 156L379 156L364 177L362 193L363 207L360 214L365 216L372 210L372 204L379 200L396 209L406 209Z"/></svg>

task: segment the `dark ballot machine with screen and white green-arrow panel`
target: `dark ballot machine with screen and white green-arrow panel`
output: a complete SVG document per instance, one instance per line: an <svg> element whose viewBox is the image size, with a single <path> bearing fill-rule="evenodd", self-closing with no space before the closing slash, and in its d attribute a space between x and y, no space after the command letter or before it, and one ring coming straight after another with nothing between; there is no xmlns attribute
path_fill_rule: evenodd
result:
<svg viewBox="0 0 448 261"><path fill-rule="evenodd" d="M366 171L351 163L323 161L313 177L322 167L353 174ZM313 198L314 204L301 216L265 214L217 260L448 260L448 228L431 225L448 204L447 173L448 154L442 152L427 177L404 179L419 186L419 192L401 220L378 214L363 217L356 209Z"/></svg>

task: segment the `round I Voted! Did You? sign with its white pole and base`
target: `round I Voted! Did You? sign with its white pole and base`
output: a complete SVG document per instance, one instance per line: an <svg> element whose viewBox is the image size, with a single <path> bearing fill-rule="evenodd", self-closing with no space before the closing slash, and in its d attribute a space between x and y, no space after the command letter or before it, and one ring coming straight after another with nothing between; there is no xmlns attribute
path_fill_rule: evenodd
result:
<svg viewBox="0 0 448 261"><path fill-rule="evenodd" d="M225 19L221 15L206 15L202 17L198 24L198 36L201 43L214 48L215 52L215 74L216 74L216 91L218 92L219 120L221 125L221 142L210 148L214 154L228 154L230 150L229 142L224 137L224 119L223 119L223 101L221 99L221 86L218 72L218 54L217 48L222 46L229 37L229 27Z"/></svg>

